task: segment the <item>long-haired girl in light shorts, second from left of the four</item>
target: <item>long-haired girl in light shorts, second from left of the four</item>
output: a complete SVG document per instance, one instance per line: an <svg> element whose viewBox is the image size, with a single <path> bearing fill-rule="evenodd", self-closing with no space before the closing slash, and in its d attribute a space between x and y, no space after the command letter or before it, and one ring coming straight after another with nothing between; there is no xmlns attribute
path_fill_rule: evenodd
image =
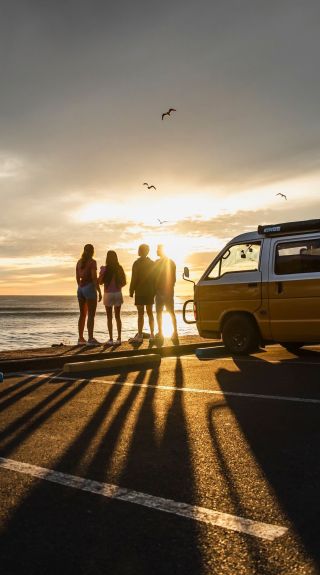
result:
<svg viewBox="0 0 320 575"><path fill-rule="evenodd" d="M119 264L117 253L113 250L107 252L106 265L100 268L98 280L100 285L104 285L103 303L107 312L109 341L107 345L121 344L121 305L123 297L121 289L126 285L126 275L123 267ZM118 337L113 339L113 308L117 325Z"/></svg>

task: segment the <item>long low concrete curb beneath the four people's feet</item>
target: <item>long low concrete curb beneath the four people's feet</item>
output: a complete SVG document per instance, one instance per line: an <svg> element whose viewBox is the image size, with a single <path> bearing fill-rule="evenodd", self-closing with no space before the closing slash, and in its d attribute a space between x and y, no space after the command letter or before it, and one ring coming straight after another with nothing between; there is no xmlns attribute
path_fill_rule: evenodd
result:
<svg viewBox="0 0 320 575"><path fill-rule="evenodd" d="M164 346L161 348L147 348L147 349L133 349L126 351L114 352L99 352L92 354L78 354L78 355L63 355L63 356L43 356L24 359L7 359L0 362L0 370L4 373L14 371L48 371L50 369L62 369L64 364L70 360L70 363L78 363L81 361L111 359L116 357L130 358L134 355L147 355L149 353L157 353L161 357L178 357L180 355L188 355L201 347L214 347L220 346L221 342L197 342L187 343L177 346Z"/></svg>

